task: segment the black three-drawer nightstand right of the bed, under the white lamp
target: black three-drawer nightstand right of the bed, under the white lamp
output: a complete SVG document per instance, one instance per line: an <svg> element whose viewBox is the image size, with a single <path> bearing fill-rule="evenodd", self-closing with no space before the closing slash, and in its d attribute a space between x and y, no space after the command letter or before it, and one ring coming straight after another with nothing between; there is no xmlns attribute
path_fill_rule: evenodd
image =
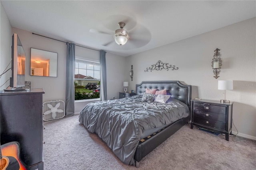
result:
<svg viewBox="0 0 256 170"><path fill-rule="evenodd" d="M223 133L226 140L229 140L229 134L232 133L232 110L233 102L220 103L215 100L191 100L191 124Z"/></svg>

